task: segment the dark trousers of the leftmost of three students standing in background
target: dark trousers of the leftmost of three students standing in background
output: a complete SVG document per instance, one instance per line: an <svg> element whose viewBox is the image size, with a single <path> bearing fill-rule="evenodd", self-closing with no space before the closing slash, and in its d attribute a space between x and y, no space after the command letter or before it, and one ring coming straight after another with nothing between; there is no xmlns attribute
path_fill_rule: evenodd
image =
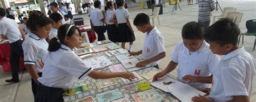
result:
<svg viewBox="0 0 256 102"><path fill-rule="evenodd" d="M106 29L104 26L94 26L93 28L98 35L98 41L106 40L106 37L104 35Z"/></svg>

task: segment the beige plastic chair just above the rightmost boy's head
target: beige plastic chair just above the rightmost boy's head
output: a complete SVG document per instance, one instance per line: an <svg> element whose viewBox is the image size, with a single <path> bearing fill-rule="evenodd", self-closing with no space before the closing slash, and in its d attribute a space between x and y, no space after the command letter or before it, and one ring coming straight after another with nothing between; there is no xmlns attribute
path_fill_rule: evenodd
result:
<svg viewBox="0 0 256 102"><path fill-rule="evenodd" d="M233 21L235 21L235 23L240 24L241 20L242 20L242 12L228 12L227 13L227 18L231 18L233 19Z"/></svg>

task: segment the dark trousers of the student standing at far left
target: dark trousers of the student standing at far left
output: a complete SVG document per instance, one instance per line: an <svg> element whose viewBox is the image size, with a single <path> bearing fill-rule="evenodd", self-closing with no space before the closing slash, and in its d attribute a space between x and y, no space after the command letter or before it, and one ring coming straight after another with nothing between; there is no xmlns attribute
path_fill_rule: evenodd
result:
<svg viewBox="0 0 256 102"><path fill-rule="evenodd" d="M11 64L11 76L14 79L19 78L19 58L24 57L22 49L22 40L10 43L10 64Z"/></svg>

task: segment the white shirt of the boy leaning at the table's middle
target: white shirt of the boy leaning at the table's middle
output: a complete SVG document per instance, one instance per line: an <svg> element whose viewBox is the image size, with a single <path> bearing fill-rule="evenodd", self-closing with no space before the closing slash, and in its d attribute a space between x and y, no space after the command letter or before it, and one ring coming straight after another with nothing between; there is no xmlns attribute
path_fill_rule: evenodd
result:
<svg viewBox="0 0 256 102"><path fill-rule="evenodd" d="M154 56L157 56L160 53L165 52L164 48L164 36L160 31L157 30L157 27L154 28L147 34L145 33L145 41L143 43L142 49L142 60L151 59ZM160 63L160 60L151 62L151 65L157 65Z"/></svg>

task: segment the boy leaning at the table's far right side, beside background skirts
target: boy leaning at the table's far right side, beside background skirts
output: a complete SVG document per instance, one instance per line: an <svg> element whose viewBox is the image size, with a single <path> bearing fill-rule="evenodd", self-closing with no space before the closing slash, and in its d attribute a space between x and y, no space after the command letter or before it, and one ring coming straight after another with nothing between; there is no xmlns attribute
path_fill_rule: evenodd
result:
<svg viewBox="0 0 256 102"><path fill-rule="evenodd" d="M139 13L133 20L140 32L145 33L145 41L142 50L131 52L131 55L142 54L141 62L136 64L136 67L143 67L147 64L159 69L160 60L165 57L164 36L157 30L156 26L150 24L150 18L145 13Z"/></svg>

